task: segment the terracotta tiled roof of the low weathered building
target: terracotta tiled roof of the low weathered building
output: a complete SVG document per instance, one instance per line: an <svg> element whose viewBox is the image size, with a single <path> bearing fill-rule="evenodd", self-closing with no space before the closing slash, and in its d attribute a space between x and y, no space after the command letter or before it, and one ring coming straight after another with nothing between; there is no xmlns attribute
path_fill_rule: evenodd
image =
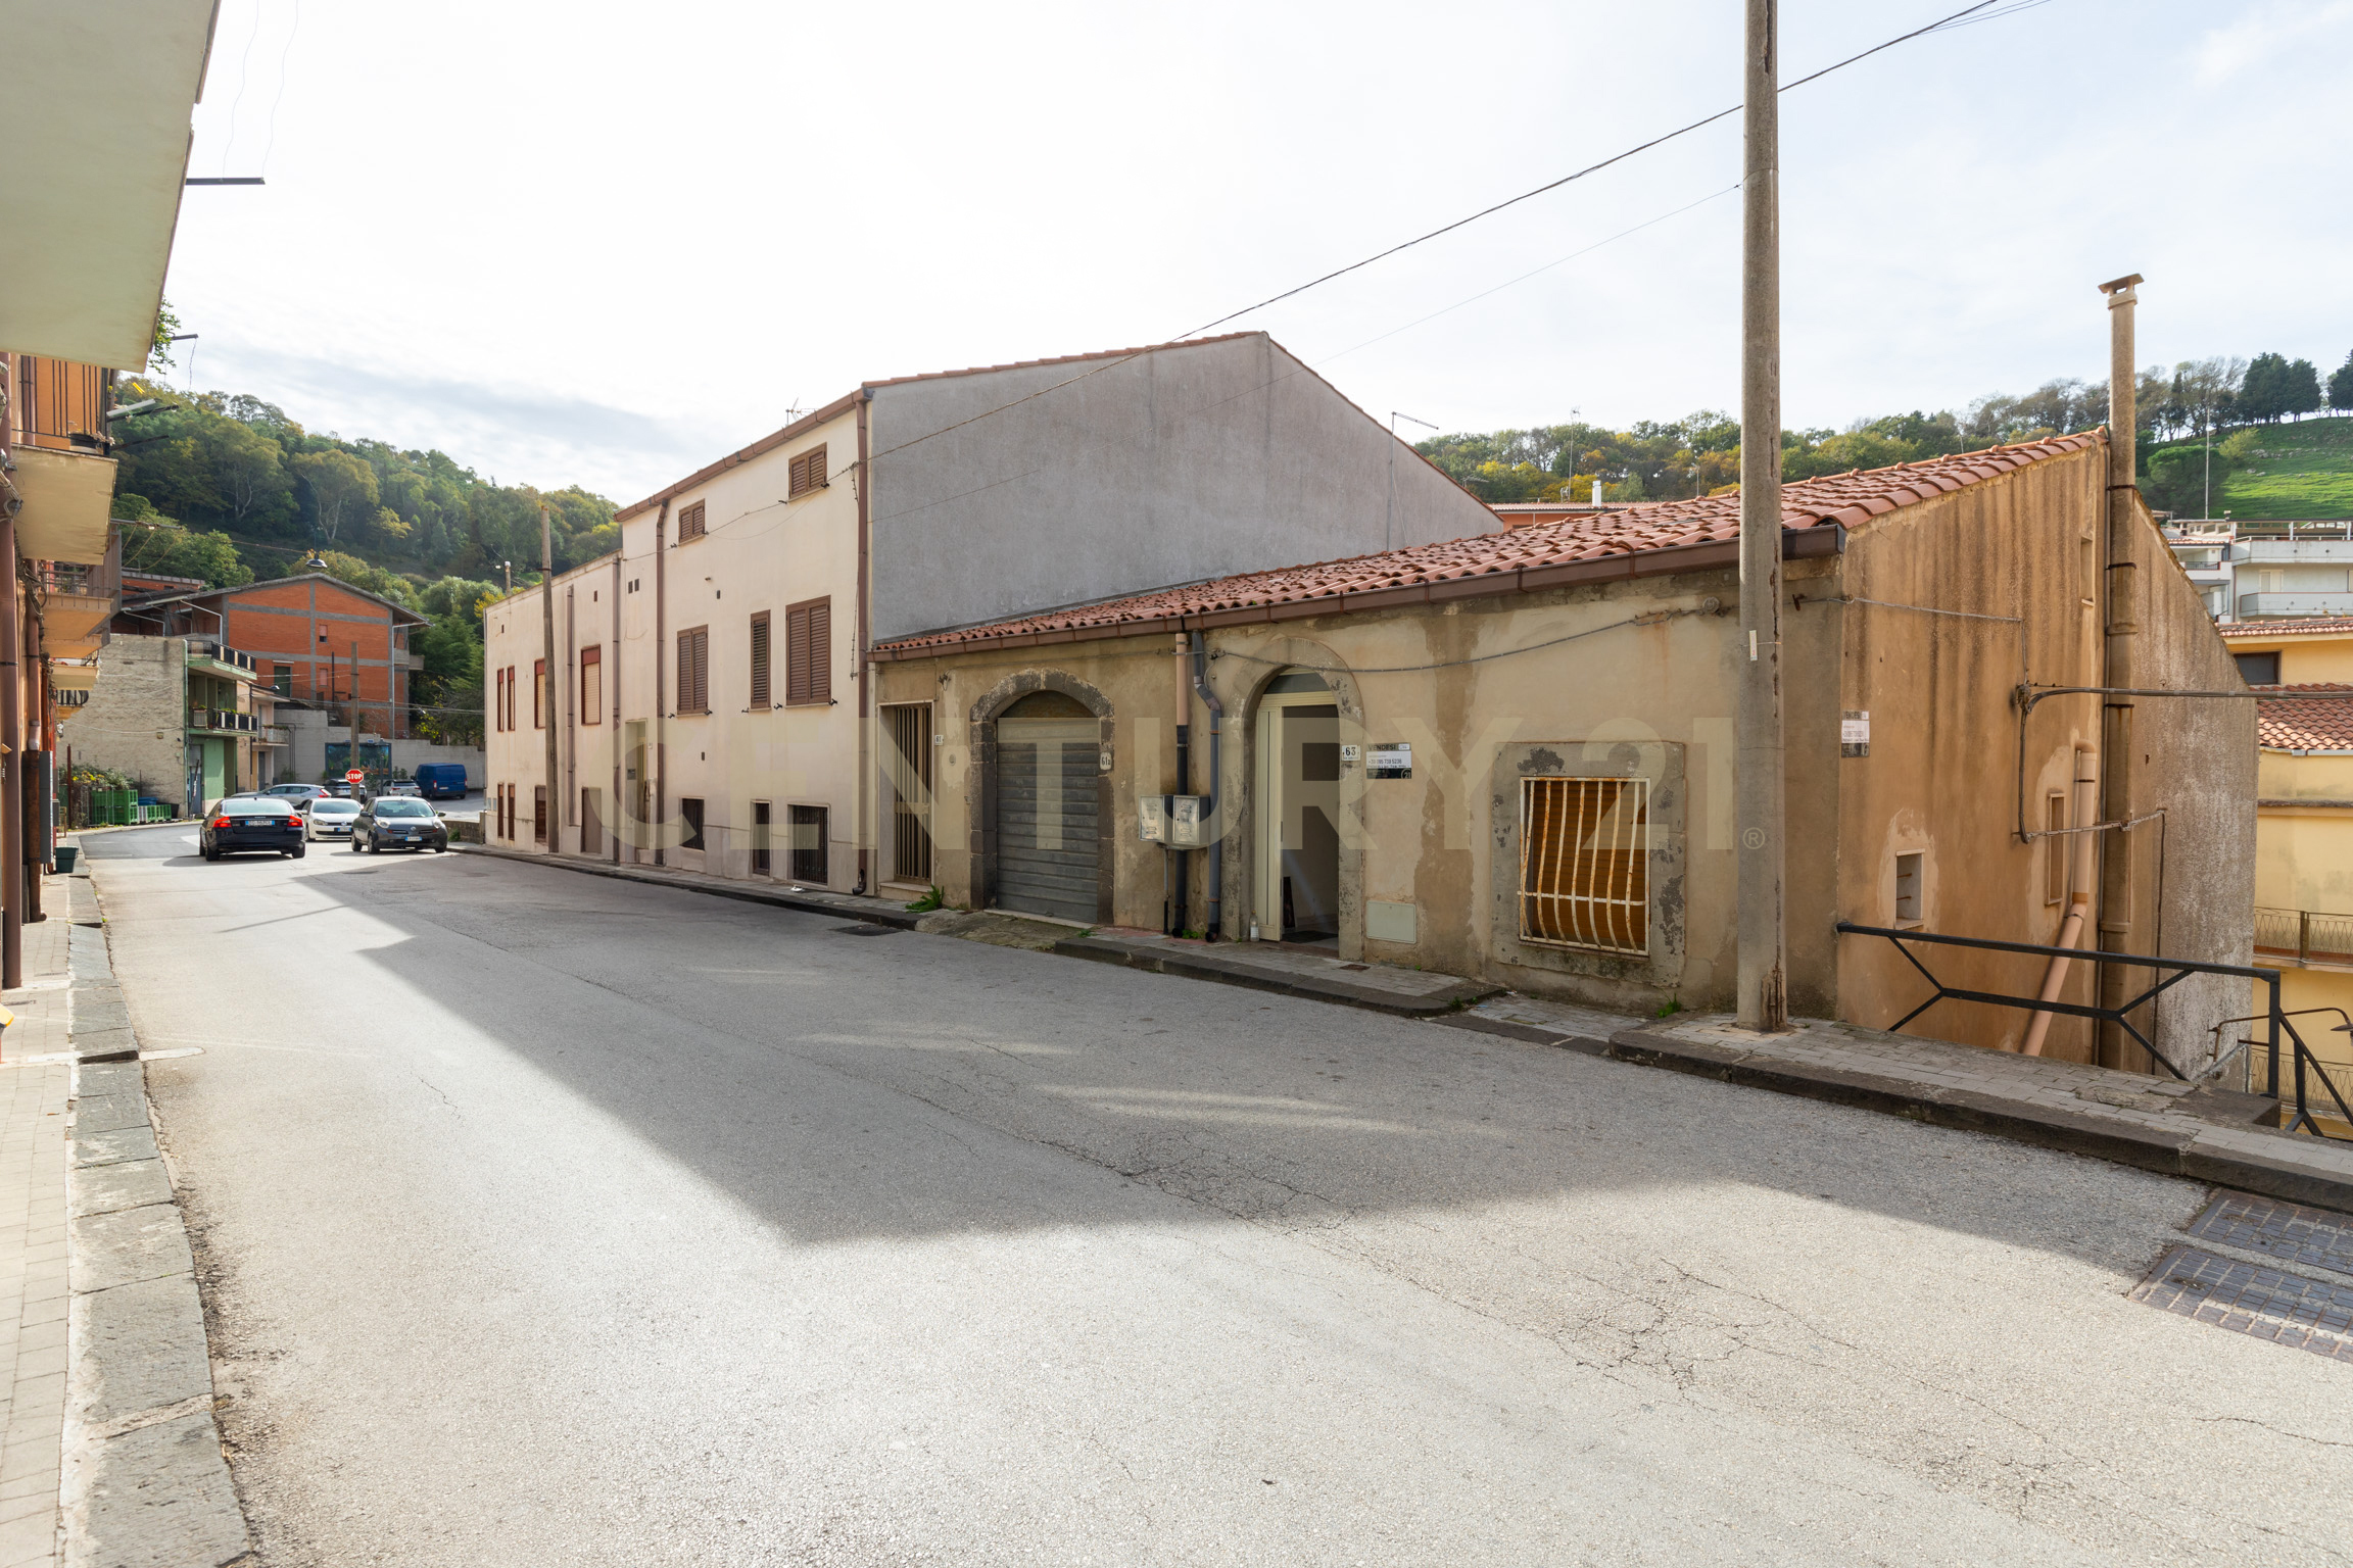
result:
<svg viewBox="0 0 2353 1568"><path fill-rule="evenodd" d="M2106 442L2106 433L2061 435L2017 447L1991 447L1948 458L1925 458L1894 468L1871 468L1821 480L1798 480L1781 487L1781 527L1791 534L1819 529L1819 552L1835 550L1831 524L1859 524L1899 505L1927 501L1979 480L2026 468L2068 451ZM1741 501L1737 494L1697 501L1649 501L1624 510L1539 522L1506 534L1473 534L1435 545L1412 545L1384 555L1358 555L1311 567L1280 567L1245 576L1165 588L1160 592L1080 604L1042 616L1019 616L951 632L927 632L878 644L878 654L920 654L965 642L1071 639L1075 635L1118 637L1146 630L1141 623L1165 623L1179 616L1261 618L1254 609L1308 604L1311 614L1341 609L1379 609L1384 604L1421 602L1515 588L1553 588L1574 581L1635 576L1638 557L1666 557L1657 569L1699 569L1715 562L1725 548L1737 548ZM1711 550L1711 545L1715 545ZM1793 541L1800 555L1812 555L1812 541ZM1668 557L1668 552L1678 552Z"/></svg>

